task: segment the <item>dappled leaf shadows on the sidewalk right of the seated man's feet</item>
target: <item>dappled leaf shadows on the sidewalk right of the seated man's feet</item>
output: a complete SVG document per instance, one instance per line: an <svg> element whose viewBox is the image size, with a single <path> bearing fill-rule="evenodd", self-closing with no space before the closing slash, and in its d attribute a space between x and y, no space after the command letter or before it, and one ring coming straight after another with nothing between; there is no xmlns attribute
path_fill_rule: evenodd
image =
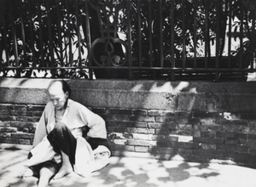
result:
<svg viewBox="0 0 256 187"><path fill-rule="evenodd" d="M157 161L143 158L114 158L102 170L89 178L67 181L57 186L113 186L113 187L158 187L176 184L191 177L207 179L218 176L218 172L207 168L208 164L189 164L183 161Z"/></svg>

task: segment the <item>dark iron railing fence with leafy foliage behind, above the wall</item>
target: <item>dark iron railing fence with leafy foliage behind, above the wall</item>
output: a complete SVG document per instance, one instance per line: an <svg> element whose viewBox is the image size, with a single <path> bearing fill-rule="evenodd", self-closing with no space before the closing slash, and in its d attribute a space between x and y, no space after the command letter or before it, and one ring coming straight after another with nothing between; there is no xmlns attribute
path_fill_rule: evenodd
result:
<svg viewBox="0 0 256 187"><path fill-rule="evenodd" d="M244 79L253 0L1 0L1 77Z"/></svg>

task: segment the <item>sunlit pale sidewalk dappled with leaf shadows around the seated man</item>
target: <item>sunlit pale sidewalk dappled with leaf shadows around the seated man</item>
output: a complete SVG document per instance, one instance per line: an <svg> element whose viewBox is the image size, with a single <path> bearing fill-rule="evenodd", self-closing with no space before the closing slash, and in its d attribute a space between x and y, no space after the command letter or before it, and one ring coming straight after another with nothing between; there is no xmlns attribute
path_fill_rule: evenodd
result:
<svg viewBox="0 0 256 187"><path fill-rule="evenodd" d="M0 150L0 186L32 187L37 178L19 178L27 150ZM51 181L50 187L256 187L256 169L217 163L157 161L134 157L111 157L101 171L81 178L72 173Z"/></svg>

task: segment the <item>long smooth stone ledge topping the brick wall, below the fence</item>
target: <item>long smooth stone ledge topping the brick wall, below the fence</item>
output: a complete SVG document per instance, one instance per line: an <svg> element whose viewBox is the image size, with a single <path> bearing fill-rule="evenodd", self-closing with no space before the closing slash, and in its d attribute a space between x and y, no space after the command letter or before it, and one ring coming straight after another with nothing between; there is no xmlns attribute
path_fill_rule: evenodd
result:
<svg viewBox="0 0 256 187"><path fill-rule="evenodd" d="M51 79L0 78L0 103L45 105ZM71 98L88 107L163 111L256 112L256 82L68 79Z"/></svg>

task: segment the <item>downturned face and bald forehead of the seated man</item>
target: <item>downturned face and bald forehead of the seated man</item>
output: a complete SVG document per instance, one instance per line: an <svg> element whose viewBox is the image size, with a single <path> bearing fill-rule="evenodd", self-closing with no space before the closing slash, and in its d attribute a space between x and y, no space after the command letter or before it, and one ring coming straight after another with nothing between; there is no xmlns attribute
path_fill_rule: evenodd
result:
<svg viewBox="0 0 256 187"><path fill-rule="evenodd" d="M62 90L61 82L54 82L48 89L49 99L55 106L56 110L61 110L66 104L68 93Z"/></svg>

